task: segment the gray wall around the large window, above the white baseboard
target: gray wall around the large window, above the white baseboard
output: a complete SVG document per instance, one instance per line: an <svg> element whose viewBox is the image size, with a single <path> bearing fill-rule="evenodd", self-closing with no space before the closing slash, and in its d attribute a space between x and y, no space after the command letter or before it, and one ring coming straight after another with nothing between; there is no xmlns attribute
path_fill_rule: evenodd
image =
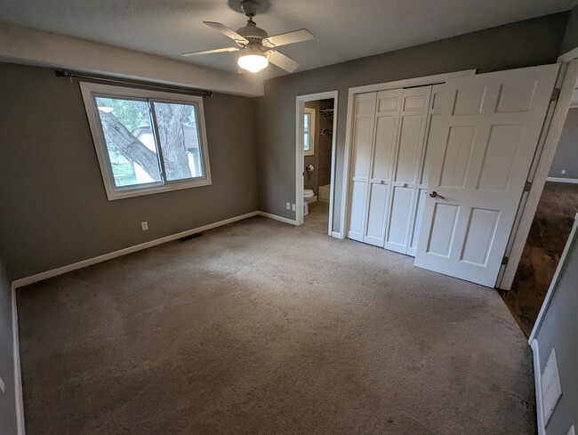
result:
<svg viewBox="0 0 578 435"><path fill-rule="evenodd" d="M254 99L205 100L213 185L109 202L78 85L7 63L0 77L0 257L13 278L257 209Z"/></svg>

